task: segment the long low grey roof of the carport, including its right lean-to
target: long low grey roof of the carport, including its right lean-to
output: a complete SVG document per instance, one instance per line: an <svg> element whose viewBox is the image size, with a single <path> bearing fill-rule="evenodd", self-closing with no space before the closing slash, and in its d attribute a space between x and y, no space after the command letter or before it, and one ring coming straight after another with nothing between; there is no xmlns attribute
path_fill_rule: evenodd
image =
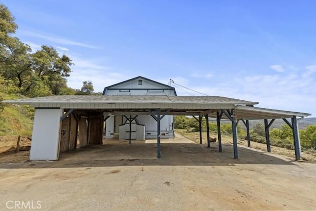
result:
<svg viewBox="0 0 316 211"><path fill-rule="evenodd" d="M161 109L166 115L204 115L216 117L221 109L235 109L236 119L280 119L307 117L311 114L253 107L258 102L220 96L121 96L121 95L56 95L29 99L4 100L4 103L31 107L85 109L94 112L148 114ZM223 118L225 115L223 115Z"/></svg>

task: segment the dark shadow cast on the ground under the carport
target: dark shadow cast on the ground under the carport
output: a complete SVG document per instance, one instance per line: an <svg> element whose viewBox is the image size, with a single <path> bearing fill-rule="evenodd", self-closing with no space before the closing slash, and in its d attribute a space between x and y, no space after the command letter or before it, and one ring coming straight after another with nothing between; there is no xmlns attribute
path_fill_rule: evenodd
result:
<svg viewBox="0 0 316 211"><path fill-rule="evenodd" d="M9 155L8 155L9 156ZM16 156L16 155L11 155ZM205 144L162 143L161 159L157 159L157 144L134 141L110 142L90 145L61 153L57 162L30 162L24 159L4 160L0 156L0 169L21 168L80 168L115 166L235 166L237 164L294 165L293 160L247 147L238 147L234 159L232 144L223 144L223 152L217 143L210 148Z"/></svg>

